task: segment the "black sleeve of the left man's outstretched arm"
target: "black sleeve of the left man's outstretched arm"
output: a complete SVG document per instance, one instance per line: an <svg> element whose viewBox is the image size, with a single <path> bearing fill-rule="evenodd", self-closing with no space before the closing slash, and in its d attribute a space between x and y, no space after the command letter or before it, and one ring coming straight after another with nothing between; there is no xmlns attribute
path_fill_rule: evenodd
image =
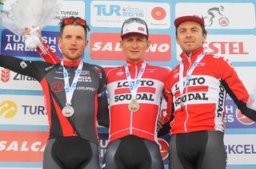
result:
<svg viewBox="0 0 256 169"><path fill-rule="evenodd" d="M40 67L44 66L42 61L23 61L18 57L0 55L0 66L10 69L15 73L20 73L29 77L34 77L37 81L41 81L43 76L40 73Z"/></svg>

